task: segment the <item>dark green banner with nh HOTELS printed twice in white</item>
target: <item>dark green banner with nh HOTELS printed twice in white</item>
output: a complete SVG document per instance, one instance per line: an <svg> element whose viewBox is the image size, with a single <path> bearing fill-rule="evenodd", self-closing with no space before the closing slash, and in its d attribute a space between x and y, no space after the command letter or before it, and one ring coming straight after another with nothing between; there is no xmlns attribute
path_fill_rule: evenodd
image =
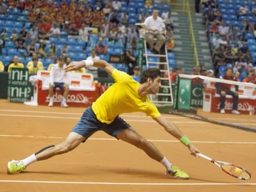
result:
<svg viewBox="0 0 256 192"><path fill-rule="evenodd" d="M24 102L32 92L28 69L12 68L8 78L8 101Z"/></svg>

